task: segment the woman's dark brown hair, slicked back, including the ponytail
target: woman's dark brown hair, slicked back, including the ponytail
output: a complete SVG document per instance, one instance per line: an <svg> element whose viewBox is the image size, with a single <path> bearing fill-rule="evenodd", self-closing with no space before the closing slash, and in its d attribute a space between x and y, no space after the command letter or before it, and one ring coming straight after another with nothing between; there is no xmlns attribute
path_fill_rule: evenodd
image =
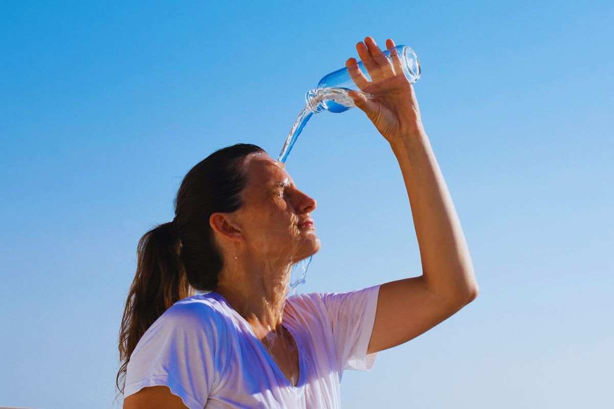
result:
<svg viewBox="0 0 614 409"><path fill-rule="evenodd" d="M209 217L241 208L241 193L247 184L243 162L255 152L265 151L251 143L237 143L196 164L177 191L174 220L158 224L139 240L136 274L119 331L122 365L115 384L122 394L130 355L153 321L195 289L216 289L223 259Z"/></svg>

